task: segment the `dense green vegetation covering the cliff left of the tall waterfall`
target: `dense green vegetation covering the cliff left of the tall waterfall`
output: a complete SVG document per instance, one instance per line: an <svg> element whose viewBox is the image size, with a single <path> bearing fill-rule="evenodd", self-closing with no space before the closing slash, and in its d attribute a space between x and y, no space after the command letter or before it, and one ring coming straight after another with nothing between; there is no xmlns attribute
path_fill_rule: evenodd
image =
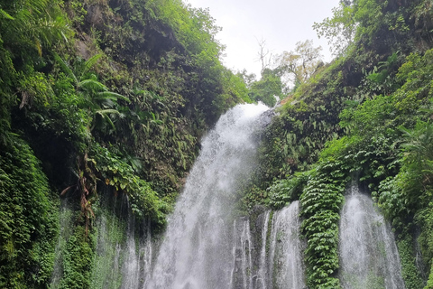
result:
<svg viewBox="0 0 433 289"><path fill-rule="evenodd" d="M177 0L0 1L0 287L88 288L101 194L155 230L198 139L249 102L207 10ZM111 189L110 189L111 188Z"/></svg>

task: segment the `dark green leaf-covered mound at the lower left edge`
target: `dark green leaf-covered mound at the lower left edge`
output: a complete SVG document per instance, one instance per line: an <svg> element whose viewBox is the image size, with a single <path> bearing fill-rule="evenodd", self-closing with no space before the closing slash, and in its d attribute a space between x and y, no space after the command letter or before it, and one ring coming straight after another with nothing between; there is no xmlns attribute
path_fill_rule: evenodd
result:
<svg viewBox="0 0 433 289"><path fill-rule="evenodd" d="M29 145L0 143L0 286L45 288L54 262L58 209Z"/></svg>

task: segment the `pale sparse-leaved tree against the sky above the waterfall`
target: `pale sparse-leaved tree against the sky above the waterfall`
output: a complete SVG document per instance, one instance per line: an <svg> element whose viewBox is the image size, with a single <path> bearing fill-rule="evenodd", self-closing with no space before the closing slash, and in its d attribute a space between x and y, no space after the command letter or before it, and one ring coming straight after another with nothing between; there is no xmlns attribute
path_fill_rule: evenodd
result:
<svg viewBox="0 0 433 289"><path fill-rule="evenodd" d="M295 51L283 51L276 58L276 70L281 77L294 85L304 83L317 70L321 63L320 46L313 47L313 41L297 42Z"/></svg>

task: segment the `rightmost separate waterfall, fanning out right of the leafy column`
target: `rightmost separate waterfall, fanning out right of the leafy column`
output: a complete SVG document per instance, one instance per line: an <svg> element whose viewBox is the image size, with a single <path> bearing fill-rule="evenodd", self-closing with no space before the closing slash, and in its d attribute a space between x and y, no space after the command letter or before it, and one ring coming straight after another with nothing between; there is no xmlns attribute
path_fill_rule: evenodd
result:
<svg viewBox="0 0 433 289"><path fill-rule="evenodd" d="M404 288L400 257L390 226L367 195L352 187L340 220L343 288Z"/></svg>

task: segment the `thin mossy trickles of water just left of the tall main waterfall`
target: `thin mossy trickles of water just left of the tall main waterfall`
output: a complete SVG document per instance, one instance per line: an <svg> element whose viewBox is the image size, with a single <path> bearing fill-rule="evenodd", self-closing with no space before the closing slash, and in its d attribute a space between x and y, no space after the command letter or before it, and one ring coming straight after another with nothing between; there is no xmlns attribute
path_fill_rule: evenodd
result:
<svg viewBox="0 0 433 289"><path fill-rule="evenodd" d="M103 209L96 223L97 246L91 288L139 289L150 274L152 242L149 221L136 224L130 203L120 198L102 198ZM117 199L120 199L116 205ZM141 225L141 226L138 226Z"/></svg>

